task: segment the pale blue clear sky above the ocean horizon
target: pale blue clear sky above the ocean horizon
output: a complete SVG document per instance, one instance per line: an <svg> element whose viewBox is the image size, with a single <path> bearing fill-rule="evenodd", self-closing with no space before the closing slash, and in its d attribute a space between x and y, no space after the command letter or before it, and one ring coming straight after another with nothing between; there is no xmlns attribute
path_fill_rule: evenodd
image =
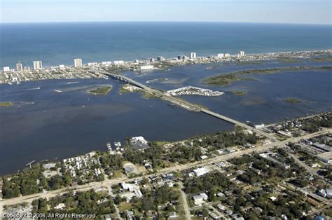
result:
<svg viewBox="0 0 332 220"><path fill-rule="evenodd" d="M0 0L0 22L332 24L332 0Z"/></svg>

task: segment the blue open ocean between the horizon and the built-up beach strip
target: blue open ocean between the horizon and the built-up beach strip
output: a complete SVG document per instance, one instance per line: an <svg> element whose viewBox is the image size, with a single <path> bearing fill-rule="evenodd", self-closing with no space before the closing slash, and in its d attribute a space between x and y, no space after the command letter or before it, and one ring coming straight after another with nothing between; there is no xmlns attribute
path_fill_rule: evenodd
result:
<svg viewBox="0 0 332 220"><path fill-rule="evenodd" d="M265 53L330 49L331 25L216 22L82 22L0 24L0 67L176 57L195 51Z"/></svg>

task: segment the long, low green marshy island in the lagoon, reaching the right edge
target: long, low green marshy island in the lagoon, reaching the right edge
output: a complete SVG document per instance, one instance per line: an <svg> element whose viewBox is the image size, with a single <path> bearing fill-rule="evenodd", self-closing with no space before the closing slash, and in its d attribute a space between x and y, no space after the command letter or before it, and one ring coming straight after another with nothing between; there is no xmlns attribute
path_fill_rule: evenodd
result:
<svg viewBox="0 0 332 220"><path fill-rule="evenodd" d="M209 85L228 85L235 81L242 80L255 80L251 77L244 77L247 74L276 74L280 71L300 71L300 70L319 70L319 69L332 69L332 67L280 67L272 69L248 69L235 71L228 74L218 74L215 76L210 76L208 78L202 79L202 83Z"/></svg>

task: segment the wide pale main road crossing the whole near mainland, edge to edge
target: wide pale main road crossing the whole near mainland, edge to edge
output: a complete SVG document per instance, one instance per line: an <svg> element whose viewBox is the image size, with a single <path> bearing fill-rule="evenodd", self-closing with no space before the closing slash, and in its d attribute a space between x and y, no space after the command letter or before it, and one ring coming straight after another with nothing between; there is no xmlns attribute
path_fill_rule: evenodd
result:
<svg viewBox="0 0 332 220"><path fill-rule="evenodd" d="M226 154L226 155L216 156L215 158L209 158L209 159L201 160L201 161L194 162L194 163L188 163L188 164L184 164L184 165L176 165L174 167L167 167L167 168L164 168L162 170L159 170L157 172L157 174L164 174L164 173L167 173L167 172L187 170L187 169L192 168L192 167L198 167L198 166L204 166L204 165L212 165L214 163L230 160L231 158L240 157L244 154L249 154L249 153L252 153L254 151L257 151L257 152L266 151L268 149L272 149L274 146L283 147L283 146L285 146L284 145L285 143L296 142L296 141L298 141L300 139L303 139L303 138L308 139L310 137L314 137L314 136L317 136L317 135L323 135L323 134L326 134L328 132L332 132L332 129L326 129L324 131L315 132L315 133L312 133L310 135L305 135L303 137L296 137L296 138L287 139L284 142L271 143L271 144L268 144L268 145L265 145L265 146L257 146L256 148L245 149L243 151L235 151L234 153L229 153L229 154ZM145 176L145 177L147 177L147 176ZM69 191L88 191L91 188L100 188L100 187L108 188L110 185L113 186L113 185L116 185L116 184L120 184L120 182L122 182L122 181L133 181L134 179L137 179L137 178L131 178L130 179L130 178L127 178L127 177L121 177L121 178L118 178L118 179L106 179L105 181L102 181L102 182L92 182L90 184L85 184L85 185L82 185L82 186L67 187L67 188L62 188L62 189L55 190L55 191L46 191L46 192L43 192L43 193L25 195L25 196L21 196L21 197L18 197L18 198L11 198L11 199L7 199L7 200L1 200L0 201L0 206L2 207L4 205L13 205L13 204L17 204L17 203L20 203L20 202L32 202L33 200L36 200L36 199L39 199L39 198L53 198L55 196L62 195L64 193L68 193ZM1 211L1 209L0 209L0 211ZM0 216L2 216L1 213L0 213Z"/></svg>

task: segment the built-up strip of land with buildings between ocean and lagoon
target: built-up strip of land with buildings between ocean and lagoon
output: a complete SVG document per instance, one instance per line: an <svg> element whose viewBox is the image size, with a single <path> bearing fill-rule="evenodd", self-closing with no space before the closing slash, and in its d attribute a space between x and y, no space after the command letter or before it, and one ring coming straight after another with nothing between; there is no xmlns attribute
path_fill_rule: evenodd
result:
<svg viewBox="0 0 332 220"><path fill-rule="evenodd" d="M226 56L227 55L227 56ZM99 68L104 71L148 71L148 70L162 70L172 67L179 67L191 64L214 64L223 62L258 62L276 60L277 62L293 63L294 59L305 60L311 59L312 62L328 62L332 56L332 49L328 50L310 50L310 51L289 51L289 52L277 52L277 53L256 53L247 55L230 55L225 54L224 57L208 56L208 57L196 57L188 59L188 57L177 60L175 58L165 59L162 61L154 60L135 60L134 62L124 62L120 60L118 62L94 62L83 65L82 68L75 68L71 66L65 67L47 67L37 70L24 70L24 71L1 71L0 84L8 83L20 84L25 81L39 81L47 79L74 79L74 78L107 78L104 74L91 72L90 67ZM324 59L321 59L321 58ZM326 59L327 58L327 59ZM280 60L280 61L278 61ZM143 68L142 68L143 67ZM146 69L147 68L147 69ZM146 69L146 70L144 70Z"/></svg>

